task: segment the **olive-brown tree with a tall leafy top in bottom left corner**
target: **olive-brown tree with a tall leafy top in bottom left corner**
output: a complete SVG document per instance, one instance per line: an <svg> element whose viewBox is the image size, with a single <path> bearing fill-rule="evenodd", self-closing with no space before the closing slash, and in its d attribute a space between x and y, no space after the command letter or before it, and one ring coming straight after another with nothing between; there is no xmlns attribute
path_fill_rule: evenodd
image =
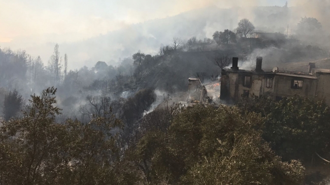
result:
<svg viewBox="0 0 330 185"><path fill-rule="evenodd" d="M54 124L59 108L53 107L56 89L31 96L29 111L21 119L4 122L0 136L0 179L2 184L45 184L66 170L61 143L68 139L64 125Z"/></svg>

